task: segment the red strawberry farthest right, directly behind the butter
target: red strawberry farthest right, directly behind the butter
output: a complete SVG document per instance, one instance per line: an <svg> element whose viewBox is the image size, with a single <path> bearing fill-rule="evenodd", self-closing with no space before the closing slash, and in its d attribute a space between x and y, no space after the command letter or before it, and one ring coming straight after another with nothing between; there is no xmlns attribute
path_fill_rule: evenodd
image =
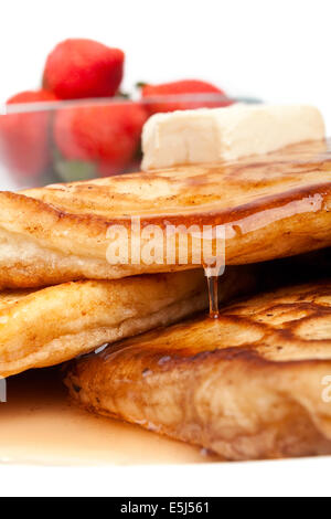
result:
<svg viewBox="0 0 331 519"><path fill-rule="evenodd" d="M161 102L157 97L163 96L175 96L175 95L194 95L194 94L214 94L218 96L225 96L225 93L210 83L196 80L184 80L177 81L173 83L163 83L161 85L145 85L142 86L142 97L143 99L150 99L150 103L147 105L147 109L150 114L156 114L157 112L174 112L174 110L186 110L193 108L202 107L216 107L216 106L228 106L232 104L232 100L228 98L213 99L211 98L200 98L196 100L164 100ZM153 97L156 98L153 100Z"/></svg>

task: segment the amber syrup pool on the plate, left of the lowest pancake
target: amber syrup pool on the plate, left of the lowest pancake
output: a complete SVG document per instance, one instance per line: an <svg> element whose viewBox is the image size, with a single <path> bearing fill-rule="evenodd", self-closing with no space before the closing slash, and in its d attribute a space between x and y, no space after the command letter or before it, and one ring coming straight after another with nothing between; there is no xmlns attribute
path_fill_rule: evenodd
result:
<svg viewBox="0 0 331 519"><path fill-rule="evenodd" d="M199 447L81 410L68 400L57 368L10 377L7 403L0 403L0 425L2 464L95 466L214 460Z"/></svg>

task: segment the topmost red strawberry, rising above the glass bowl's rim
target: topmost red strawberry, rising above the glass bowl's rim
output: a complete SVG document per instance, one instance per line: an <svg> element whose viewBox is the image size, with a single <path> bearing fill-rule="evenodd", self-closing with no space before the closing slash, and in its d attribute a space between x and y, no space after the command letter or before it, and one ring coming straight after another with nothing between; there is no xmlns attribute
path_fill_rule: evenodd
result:
<svg viewBox="0 0 331 519"><path fill-rule="evenodd" d="M61 99L114 96L125 55L93 40L65 40L46 60L43 85Z"/></svg>

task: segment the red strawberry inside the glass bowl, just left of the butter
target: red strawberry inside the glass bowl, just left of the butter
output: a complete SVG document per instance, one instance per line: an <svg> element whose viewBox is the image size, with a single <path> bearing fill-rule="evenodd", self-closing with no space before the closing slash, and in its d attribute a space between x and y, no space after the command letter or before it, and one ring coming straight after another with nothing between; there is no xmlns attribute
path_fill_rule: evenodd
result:
<svg viewBox="0 0 331 519"><path fill-rule="evenodd" d="M95 162L106 177L129 166L146 119L137 103L63 109L55 116L54 139L64 159Z"/></svg>

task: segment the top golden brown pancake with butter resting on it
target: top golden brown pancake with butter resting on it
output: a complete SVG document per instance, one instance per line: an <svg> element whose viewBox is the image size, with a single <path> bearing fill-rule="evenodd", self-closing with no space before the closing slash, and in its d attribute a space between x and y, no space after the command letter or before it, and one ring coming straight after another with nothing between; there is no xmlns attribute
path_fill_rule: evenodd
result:
<svg viewBox="0 0 331 519"><path fill-rule="evenodd" d="M140 216L141 229L225 225L227 264L318 250L331 245L330 206L330 141L236 162L1 192L0 285L36 287L196 266L190 254L188 264L178 256L167 264L166 247L162 264L135 264L131 256L128 264L109 264L107 230L121 224L130 240L132 215Z"/></svg>

